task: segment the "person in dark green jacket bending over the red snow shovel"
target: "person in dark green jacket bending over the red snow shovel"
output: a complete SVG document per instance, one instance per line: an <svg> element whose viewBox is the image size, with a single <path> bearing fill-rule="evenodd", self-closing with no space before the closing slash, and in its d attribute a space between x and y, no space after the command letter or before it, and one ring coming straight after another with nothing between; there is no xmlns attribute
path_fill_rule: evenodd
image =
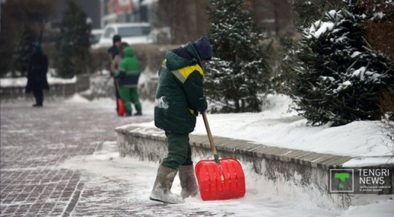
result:
<svg viewBox="0 0 394 217"><path fill-rule="evenodd" d="M151 200L182 203L184 198L198 194L189 134L194 131L198 112L207 109L202 64L212 55L212 47L204 36L165 55L159 70L155 125L165 131L168 154L157 171ZM181 195L170 191L178 170Z"/></svg>

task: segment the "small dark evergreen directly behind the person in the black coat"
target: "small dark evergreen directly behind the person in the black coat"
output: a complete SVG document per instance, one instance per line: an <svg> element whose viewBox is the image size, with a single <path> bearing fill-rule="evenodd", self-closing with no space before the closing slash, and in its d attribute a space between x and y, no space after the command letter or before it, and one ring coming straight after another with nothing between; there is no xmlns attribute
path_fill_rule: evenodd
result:
<svg viewBox="0 0 394 217"><path fill-rule="evenodd" d="M22 76L26 76L33 52L32 43L35 39L35 34L29 27L25 26L19 38L20 41L15 48L14 61L16 69L21 72Z"/></svg>

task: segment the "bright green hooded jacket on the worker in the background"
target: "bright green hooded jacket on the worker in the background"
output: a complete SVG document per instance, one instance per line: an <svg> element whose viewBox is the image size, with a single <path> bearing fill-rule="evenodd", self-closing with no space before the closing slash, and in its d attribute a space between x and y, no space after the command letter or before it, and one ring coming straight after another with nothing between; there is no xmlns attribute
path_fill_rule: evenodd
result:
<svg viewBox="0 0 394 217"><path fill-rule="evenodd" d="M119 64L115 77L119 78L119 84L123 86L135 86L138 83L141 65L134 57L134 51L130 47L123 50L123 59Z"/></svg>

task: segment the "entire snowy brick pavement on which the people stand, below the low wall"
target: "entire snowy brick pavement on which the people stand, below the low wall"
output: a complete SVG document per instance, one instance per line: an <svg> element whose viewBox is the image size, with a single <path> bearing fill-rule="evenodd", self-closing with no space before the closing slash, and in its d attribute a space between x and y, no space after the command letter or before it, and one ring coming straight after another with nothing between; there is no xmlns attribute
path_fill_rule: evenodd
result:
<svg viewBox="0 0 394 217"><path fill-rule="evenodd" d="M158 164L119 157L114 128L151 121L152 113L119 118L112 103L74 98L46 103L44 108L32 108L26 102L1 104L1 216L325 217L394 213L390 196L361 201L347 211L320 209L308 201L273 194L274 190L264 189L264 183L253 174L247 174L247 194L242 199L203 202L188 198L179 205L150 201ZM180 191L177 178L173 191Z"/></svg>

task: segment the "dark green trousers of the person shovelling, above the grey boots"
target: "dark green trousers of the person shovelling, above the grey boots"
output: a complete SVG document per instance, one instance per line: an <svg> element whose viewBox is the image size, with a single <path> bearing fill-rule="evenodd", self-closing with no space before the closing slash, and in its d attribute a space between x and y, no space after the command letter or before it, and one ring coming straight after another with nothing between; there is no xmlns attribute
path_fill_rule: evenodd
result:
<svg viewBox="0 0 394 217"><path fill-rule="evenodd" d="M164 167L177 170L179 166L192 165L192 148L189 144L189 134L165 132L168 141L168 154L162 161Z"/></svg>

